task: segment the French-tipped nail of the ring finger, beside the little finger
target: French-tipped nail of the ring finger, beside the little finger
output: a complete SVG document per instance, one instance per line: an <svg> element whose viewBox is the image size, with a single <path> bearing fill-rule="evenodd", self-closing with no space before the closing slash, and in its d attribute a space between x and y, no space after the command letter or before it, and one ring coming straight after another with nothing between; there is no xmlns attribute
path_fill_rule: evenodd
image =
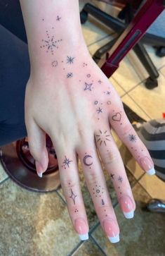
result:
<svg viewBox="0 0 165 256"><path fill-rule="evenodd" d="M131 198L128 196L120 197L119 202L126 219L132 219L134 216L134 211L133 211L133 202Z"/></svg>

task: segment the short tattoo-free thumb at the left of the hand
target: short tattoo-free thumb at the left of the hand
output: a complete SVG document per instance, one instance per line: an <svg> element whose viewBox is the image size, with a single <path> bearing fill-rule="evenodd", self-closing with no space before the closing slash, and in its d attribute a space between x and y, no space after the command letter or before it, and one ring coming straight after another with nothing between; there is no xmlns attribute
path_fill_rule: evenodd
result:
<svg viewBox="0 0 165 256"><path fill-rule="evenodd" d="M27 138L29 151L35 159L37 174L42 177L42 173L48 168L48 152L46 150L46 133L33 119L30 119L27 128Z"/></svg>

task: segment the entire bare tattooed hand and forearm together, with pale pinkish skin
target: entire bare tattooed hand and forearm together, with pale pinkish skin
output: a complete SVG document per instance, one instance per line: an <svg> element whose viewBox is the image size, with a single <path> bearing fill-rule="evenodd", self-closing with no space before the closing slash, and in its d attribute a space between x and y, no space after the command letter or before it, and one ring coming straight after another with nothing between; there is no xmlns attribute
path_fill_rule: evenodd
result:
<svg viewBox="0 0 165 256"><path fill-rule="evenodd" d="M134 212L136 203L111 128L144 171L153 170L153 161L128 121L116 90L88 53L78 1L20 0L20 4L31 63L25 124L37 173L44 173L48 167L47 133L58 157L62 190L75 230L82 240L87 238L78 155L100 224L115 243L119 225L100 159L110 173L126 217Z"/></svg>

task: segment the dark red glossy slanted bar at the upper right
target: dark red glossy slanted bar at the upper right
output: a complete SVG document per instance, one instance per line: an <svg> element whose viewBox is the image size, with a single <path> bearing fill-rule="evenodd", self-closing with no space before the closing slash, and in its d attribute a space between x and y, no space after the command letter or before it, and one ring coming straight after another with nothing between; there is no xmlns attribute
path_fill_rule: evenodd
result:
<svg viewBox="0 0 165 256"><path fill-rule="evenodd" d="M119 67L120 61L128 54L133 46L145 34L145 31L156 20L159 14L164 11L162 0L147 0L141 6L136 16L128 25L126 30L121 34L117 42L109 51L109 58L101 67L107 78L114 73Z"/></svg>

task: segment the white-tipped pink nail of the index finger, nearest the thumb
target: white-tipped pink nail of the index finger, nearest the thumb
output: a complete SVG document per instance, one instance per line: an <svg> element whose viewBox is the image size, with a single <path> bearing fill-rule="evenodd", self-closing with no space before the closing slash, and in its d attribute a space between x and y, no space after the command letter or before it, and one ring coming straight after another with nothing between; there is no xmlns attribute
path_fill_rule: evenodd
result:
<svg viewBox="0 0 165 256"><path fill-rule="evenodd" d="M82 218L76 219L74 221L74 227L79 234L80 240L88 239L88 226L86 225L86 221Z"/></svg>

